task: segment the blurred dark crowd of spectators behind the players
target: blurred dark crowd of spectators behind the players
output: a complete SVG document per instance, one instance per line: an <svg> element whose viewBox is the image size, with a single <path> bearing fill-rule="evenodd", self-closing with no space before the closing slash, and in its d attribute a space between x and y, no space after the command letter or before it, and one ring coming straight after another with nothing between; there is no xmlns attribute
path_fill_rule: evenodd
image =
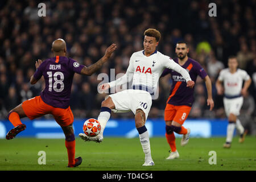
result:
<svg viewBox="0 0 256 182"><path fill-rule="evenodd" d="M57 38L67 43L68 57L89 66L100 59L105 49L118 49L104 67L92 76L75 74L71 109L75 118L97 118L106 94L97 92L98 73L125 73L133 52L143 49L143 32L156 28L162 34L158 51L175 58L175 45L185 40L189 57L199 61L213 84L214 110L206 104L204 81L197 79L195 102L189 118L226 118L215 82L228 56L236 55L239 67L252 78L241 109L247 129L255 124L256 100L256 1L213 1L217 16L210 17L212 1L92 0L43 1L46 16L38 16L40 1L0 2L0 119L16 105L38 96L44 79L30 84L35 61L52 57L51 44ZM170 76L160 78L159 98L152 103L148 118L163 118L171 88ZM133 113L113 114L112 118L133 118ZM46 115L46 118L51 118Z"/></svg>

